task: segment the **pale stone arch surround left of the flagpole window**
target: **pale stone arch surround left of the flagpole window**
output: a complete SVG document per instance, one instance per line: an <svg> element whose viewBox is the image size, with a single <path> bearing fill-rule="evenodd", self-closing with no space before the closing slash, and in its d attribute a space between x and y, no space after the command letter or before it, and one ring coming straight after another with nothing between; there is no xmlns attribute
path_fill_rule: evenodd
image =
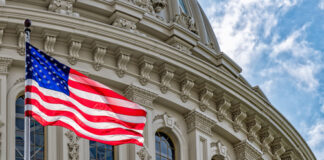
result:
<svg viewBox="0 0 324 160"><path fill-rule="evenodd" d="M24 94L25 81L17 82L8 91L7 99L7 159L15 159L16 99Z"/></svg>

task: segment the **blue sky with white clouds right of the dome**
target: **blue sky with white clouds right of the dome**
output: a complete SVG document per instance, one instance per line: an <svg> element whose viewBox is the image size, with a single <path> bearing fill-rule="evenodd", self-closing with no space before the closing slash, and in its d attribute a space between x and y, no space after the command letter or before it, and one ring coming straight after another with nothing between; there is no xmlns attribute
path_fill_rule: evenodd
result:
<svg viewBox="0 0 324 160"><path fill-rule="evenodd" d="M324 0L198 0L220 48L324 160Z"/></svg>

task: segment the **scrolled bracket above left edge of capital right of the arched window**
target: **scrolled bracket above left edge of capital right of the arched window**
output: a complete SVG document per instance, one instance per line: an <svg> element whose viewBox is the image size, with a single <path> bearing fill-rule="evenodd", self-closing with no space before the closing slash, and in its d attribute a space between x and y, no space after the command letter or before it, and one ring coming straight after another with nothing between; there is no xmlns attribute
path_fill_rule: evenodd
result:
<svg viewBox="0 0 324 160"><path fill-rule="evenodd" d="M182 102L187 102L189 97L190 97L190 91L192 89L192 87L195 85L194 79L191 75L189 75L188 73L184 73L181 76L181 100Z"/></svg>

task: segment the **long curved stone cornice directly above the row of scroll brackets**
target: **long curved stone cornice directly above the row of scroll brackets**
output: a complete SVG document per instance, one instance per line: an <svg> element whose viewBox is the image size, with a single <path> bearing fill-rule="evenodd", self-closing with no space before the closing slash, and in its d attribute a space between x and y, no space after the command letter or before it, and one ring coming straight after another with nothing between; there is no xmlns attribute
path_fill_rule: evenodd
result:
<svg viewBox="0 0 324 160"><path fill-rule="evenodd" d="M8 23L18 23L17 20L21 17L17 15L24 14L35 20L37 22L35 24L38 25L38 27L45 27L50 24L52 26L60 27L66 32L73 32L74 29L71 28L78 27L78 33L87 35L89 38L100 38L104 41L114 39L114 41L119 41L120 44L127 42L129 47L141 51L143 54L154 55L158 53L160 56L163 56L165 60L172 62L172 64L177 67L186 65L186 68L190 67L194 74L197 74L203 79L209 79L210 82L217 84L220 88L228 90L238 99L242 99L250 107L250 109L256 111L258 114L261 114L265 120L269 121L269 123L274 125L274 127L278 128L280 134L287 137L289 143L293 144L293 147L297 147L297 145L303 146L300 147L300 151L306 153L306 157L304 157L304 159L314 159L314 155L311 153L307 144L301 138L298 132L275 108L271 106L269 102L261 98L247 85L242 85L242 83L240 83L237 79L223 74L220 69L217 69L208 63L205 63L197 58L193 58L193 56L174 51L168 45L157 40L150 39L149 37L140 37L139 35L123 33L120 30L112 29L112 27L109 25L103 25L102 23L88 19L72 19L71 16L58 16L57 14L51 14L48 12L12 6L6 6L2 10L2 13L3 14L0 15L0 21L6 20ZM35 16L36 14L37 16ZM6 18L4 19L4 17ZM49 21L50 23L48 23ZM89 32L92 34L88 34ZM93 33L96 33L96 36L94 36ZM114 41L112 41L112 43L115 43ZM159 45L156 45L156 43L159 43ZM140 49L139 46L141 46Z"/></svg>

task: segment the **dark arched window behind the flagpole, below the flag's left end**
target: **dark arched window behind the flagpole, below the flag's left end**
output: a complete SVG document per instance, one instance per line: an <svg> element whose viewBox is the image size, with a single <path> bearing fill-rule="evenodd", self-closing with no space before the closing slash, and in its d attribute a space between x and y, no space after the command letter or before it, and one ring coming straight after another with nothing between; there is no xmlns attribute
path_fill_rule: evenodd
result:
<svg viewBox="0 0 324 160"><path fill-rule="evenodd" d="M16 160L24 159L24 97L16 100ZM30 155L32 160L43 160L44 127L36 120L30 120Z"/></svg>

